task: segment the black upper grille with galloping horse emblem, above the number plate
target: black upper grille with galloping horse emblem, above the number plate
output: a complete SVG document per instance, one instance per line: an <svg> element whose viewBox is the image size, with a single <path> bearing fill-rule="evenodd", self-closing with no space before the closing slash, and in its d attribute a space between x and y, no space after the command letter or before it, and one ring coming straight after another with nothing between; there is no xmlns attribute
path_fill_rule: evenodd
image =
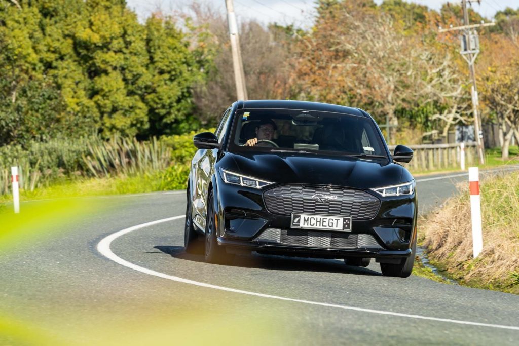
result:
<svg viewBox="0 0 519 346"><path fill-rule="evenodd" d="M278 186L265 191L263 196L268 211L281 215L309 213L371 219L380 205L378 198L365 191L302 185Z"/></svg>

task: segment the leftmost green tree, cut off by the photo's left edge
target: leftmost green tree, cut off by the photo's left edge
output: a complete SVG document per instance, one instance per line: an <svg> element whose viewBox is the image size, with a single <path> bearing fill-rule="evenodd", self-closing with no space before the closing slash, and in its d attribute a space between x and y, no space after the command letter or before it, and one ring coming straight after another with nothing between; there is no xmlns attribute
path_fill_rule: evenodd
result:
<svg viewBox="0 0 519 346"><path fill-rule="evenodd" d="M35 7L0 5L0 145L76 133L59 88L40 62L45 35Z"/></svg>

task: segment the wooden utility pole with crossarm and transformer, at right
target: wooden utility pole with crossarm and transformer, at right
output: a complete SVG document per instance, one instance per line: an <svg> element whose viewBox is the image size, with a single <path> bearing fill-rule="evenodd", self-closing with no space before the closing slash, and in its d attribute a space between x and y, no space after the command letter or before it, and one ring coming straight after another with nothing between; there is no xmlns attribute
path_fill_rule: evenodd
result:
<svg viewBox="0 0 519 346"><path fill-rule="evenodd" d="M479 3L479 0L477 1ZM479 106L479 100L477 98L476 88L476 71L474 68L474 61L476 60L477 54L480 52L480 39L477 36L476 28L484 26L492 26L495 23L481 23L481 24L469 24L469 12L467 9L467 0L461 0L461 7L463 8L463 25L457 27L450 27L449 29L442 29L440 27L439 32L447 31L461 31L461 56L469 64L470 78L472 80L471 95L472 95L472 112L474 114L474 137L477 143L477 153L480 158L480 163L485 163L485 147L483 142L483 130L481 127L481 119L477 113L477 107Z"/></svg>

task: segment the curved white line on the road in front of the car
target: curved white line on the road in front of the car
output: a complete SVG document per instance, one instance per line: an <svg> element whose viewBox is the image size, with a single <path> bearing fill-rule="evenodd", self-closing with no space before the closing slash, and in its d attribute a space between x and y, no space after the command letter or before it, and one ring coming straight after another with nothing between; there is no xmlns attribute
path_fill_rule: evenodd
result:
<svg viewBox="0 0 519 346"><path fill-rule="evenodd" d="M409 319L419 319L419 320L447 322L447 323L464 324L464 325L479 326L479 327L491 327L491 328L519 330L519 327L514 327L514 326L504 326L504 325L499 325L499 324L479 323L479 322L460 321L460 320L451 320L451 319L440 319L438 317L429 317L429 316L412 315L412 314L405 314L405 313L391 312L391 311L382 311L382 310L373 310L373 309L348 307L348 306L344 306L344 305L337 305L337 304L321 303L321 302L317 302L317 301L309 301L309 300L301 300L301 299L293 299L293 298L272 296L272 295L269 295L269 294L250 292L250 291L242 290L242 289L235 289L235 288L229 288L229 287L224 287L224 286L211 285L211 284L207 284L207 283L203 283L203 282L198 282L198 281L194 281L194 280L180 278L179 276L168 275L168 274L165 274L165 273L161 273L161 272L158 272L158 271L154 271L154 270L151 270L151 269L147 269L147 268L135 265L135 264L133 264L131 262L128 262L128 261L120 258L116 254L114 254L112 252L112 250L110 249L110 244L115 239L119 238L120 236L123 236L126 233L129 233L129 232L141 229L141 228L145 228L145 227L149 227L149 226L153 226L153 225L157 225L157 224L161 224L161 223L165 223L165 222L181 219L183 217L185 217L185 215L169 217L169 218L160 219L160 220L148 222L148 223L145 223L145 224L141 224L141 225L136 225L136 226L133 226L133 227L125 228L123 230L120 230L120 231L117 231L115 233L110 234L110 236L107 236L106 238L103 238L103 240L101 240L99 242L99 244L97 246L97 249L103 256L105 256L108 259L113 260L114 262L120 264L121 266L125 266L127 268L130 268L130 269L133 269L133 270L136 270L136 271L140 271L140 272L145 273L145 274L158 276L159 278L168 279L168 280L172 280L172 281L176 281L176 282L182 282L182 283L189 284L189 285L195 285L195 286L200 286L200 287L218 289L218 290L223 290L223 291L226 291L226 292L240 293L240 294L245 294L245 295L255 296L255 297L292 301L292 302L297 302L297 303L304 303L304 304L309 304L309 305L317 305L317 306L336 308L336 309L344 309L344 310L353 310L353 311L376 313L376 314L380 314L380 315L399 316L399 317L406 317L406 318L409 318Z"/></svg>

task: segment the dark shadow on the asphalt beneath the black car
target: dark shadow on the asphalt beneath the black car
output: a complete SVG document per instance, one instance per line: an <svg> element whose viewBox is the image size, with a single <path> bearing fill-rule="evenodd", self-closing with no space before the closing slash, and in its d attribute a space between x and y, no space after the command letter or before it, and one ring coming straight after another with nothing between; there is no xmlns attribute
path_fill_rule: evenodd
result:
<svg viewBox="0 0 519 346"><path fill-rule="evenodd" d="M192 255L184 251L183 246L157 245L154 246L162 253L171 257L193 262L205 263L203 255ZM373 261L373 260L372 260ZM382 274L369 268L347 266L343 260L288 257L278 255L264 255L253 252L251 255L237 255L231 266L242 268L259 268L269 270L293 270L293 271L318 271L331 273L350 273L357 275L378 275Z"/></svg>

